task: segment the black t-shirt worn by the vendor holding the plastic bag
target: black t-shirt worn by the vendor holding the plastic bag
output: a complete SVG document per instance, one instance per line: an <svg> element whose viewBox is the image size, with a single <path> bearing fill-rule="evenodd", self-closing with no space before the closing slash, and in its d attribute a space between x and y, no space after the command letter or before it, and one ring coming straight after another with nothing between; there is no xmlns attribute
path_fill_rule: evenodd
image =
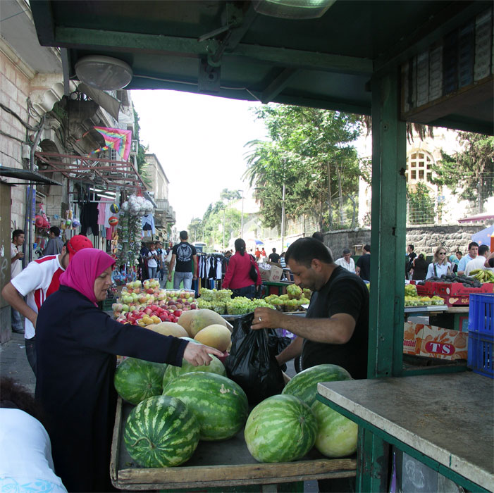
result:
<svg viewBox="0 0 494 493"><path fill-rule="evenodd" d="M331 363L342 366L353 378L367 377L369 346L369 289L354 273L338 266L319 292L314 292L306 318L330 318L348 313L355 330L347 344L326 344L304 340L302 368Z"/></svg>

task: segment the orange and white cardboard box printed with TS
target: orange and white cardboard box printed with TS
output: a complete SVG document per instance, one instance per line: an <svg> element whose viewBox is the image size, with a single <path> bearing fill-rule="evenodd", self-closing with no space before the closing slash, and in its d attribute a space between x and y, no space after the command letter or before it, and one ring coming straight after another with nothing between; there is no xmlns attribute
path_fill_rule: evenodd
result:
<svg viewBox="0 0 494 493"><path fill-rule="evenodd" d="M447 360L467 359L468 334L434 325L405 322L403 353Z"/></svg>

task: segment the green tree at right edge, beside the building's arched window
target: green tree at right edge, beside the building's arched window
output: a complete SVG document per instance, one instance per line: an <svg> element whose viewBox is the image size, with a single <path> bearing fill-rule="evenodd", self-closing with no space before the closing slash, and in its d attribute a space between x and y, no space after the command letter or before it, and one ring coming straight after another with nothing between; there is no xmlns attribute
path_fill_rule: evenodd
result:
<svg viewBox="0 0 494 493"><path fill-rule="evenodd" d="M462 199L481 202L493 195L494 137L458 132L462 151L452 156L442 153L440 162L433 166L433 183L445 185Z"/></svg>

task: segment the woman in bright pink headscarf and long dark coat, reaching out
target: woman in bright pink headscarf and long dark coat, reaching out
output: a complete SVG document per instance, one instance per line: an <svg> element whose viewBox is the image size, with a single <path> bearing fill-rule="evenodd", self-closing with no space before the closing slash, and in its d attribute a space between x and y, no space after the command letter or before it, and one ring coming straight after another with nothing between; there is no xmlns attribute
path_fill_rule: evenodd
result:
<svg viewBox="0 0 494 493"><path fill-rule="evenodd" d="M36 398L47 413L56 474L69 492L109 492L116 408L116 354L147 361L209 364L220 351L123 325L101 311L115 261L104 251L78 251L44 302L36 327ZM208 354L209 353L209 354Z"/></svg>

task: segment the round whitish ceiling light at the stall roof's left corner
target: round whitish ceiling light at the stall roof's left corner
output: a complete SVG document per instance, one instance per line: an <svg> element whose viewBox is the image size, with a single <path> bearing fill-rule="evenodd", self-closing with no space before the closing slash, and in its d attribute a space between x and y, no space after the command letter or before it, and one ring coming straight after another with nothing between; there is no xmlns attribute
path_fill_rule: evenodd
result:
<svg viewBox="0 0 494 493"><path fill-rule="evenodd" d="M81 82L101 91L123 89L132 80L132 68L110 56L91 55L75 63L75 73Z"/></svg>

